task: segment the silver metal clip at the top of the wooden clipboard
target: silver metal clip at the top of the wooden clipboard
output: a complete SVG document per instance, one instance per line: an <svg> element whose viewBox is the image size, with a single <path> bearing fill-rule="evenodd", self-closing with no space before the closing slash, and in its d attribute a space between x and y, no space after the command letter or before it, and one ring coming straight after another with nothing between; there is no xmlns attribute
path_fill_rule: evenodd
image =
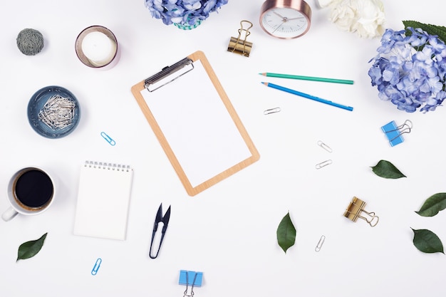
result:
<svg viewBox="0 0 446 297"><path fill-rule="evenodd" d="M162 71L144 80L144 87L149 92L153 92L154 90L161 88L163 85L167 85L167 83L171 83L173 80L176 80L181 75L185 75L193 69L193 61L190 58L184 58L171 66L162 68ZM175 75L174 78L170 77L170 75L174 73L178 74Z"/></svg>

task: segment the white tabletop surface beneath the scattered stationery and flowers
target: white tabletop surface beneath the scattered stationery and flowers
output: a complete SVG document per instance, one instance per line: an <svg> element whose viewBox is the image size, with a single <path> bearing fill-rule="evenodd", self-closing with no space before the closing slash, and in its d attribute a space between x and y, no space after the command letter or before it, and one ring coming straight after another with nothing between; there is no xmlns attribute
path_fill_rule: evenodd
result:
<svg viewBox="0 0 446 297"><path fill-rule="evenodd" d="M0 222L1 296L182 296L180 269L202 271L195 296L444 296L443 254L413 246L414 229L430 229L446 243L446 214L415 214L422 202L444 192L444 108L408 114L378 99L368 61L379 39L339 31L313 1L312 26L291 41L259 26L262 0L229 1L201 26L182 31L152 19L136 1L8 1L0 4L0 189L16 170L39 165L58 177L56 201L36 217ZM402 20L444 24L440 2L384 1L388 27ZM249 58L227 52L239 22L254 23ZM83 28L103 25L121 48L109 71L84 66L74 51ZM36 56L16 46L23 28L45 38ZM259 162L189 197L130 93L135 83L190 53L202 50L260 152ZM278 72L355 80L354 85L265 79ZM271 81L334 102L333 108L261 85ZM67 137L49 140L28 124L26 106L36 90L61 85L76 95L81 123ZM194 90L199 94L199 90ZM269 108L281 112L264 115ZM203 110L203 112L206 112ZM380 127L410 119L413 132L390 147ZM100 137L105 131L112 147ZM333 152L316 145L323 140ZM316 170L318 162L333 164ZM370 166L393 162L408 177L387 180ZM135 170L125 241L73 235L80 166L85 160L129 164ZM353 196L368 203L380 222L353 223L343 212ZM157 259L147 256L160 203L172 205ZM0 209L6 209L6 197ZM284 254L276 228L290 212L296 244ZM24 241L48 232L43 249L16 263ZM320 252L314 248L326 236ZM90 274L96 259L103 263Z"/></svg>

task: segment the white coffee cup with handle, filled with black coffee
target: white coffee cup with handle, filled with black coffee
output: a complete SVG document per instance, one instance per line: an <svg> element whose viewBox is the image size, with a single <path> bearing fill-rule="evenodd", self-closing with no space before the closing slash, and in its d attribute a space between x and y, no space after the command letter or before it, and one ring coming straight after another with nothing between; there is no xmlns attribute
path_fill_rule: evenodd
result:
<svg viewBox="0 0 446 297"><path fill-rule="evenodd" d="M36 215L53 204L56 184L46 170L26 167L17 171L9 180L7 197L11 207L1 215L9 221L17 214Z"/></svg>

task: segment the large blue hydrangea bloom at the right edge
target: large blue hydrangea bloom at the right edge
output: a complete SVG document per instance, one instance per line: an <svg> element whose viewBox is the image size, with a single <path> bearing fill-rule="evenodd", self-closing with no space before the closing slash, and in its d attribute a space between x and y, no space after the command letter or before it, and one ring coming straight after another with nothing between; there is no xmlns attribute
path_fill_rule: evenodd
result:
<svg viewBox="0 0 446 297"><path fill-rule="evenodd" d="M386 29L368 71L381 100L413 113L435 110L446 98L446 45L420 28Z"/></svg>

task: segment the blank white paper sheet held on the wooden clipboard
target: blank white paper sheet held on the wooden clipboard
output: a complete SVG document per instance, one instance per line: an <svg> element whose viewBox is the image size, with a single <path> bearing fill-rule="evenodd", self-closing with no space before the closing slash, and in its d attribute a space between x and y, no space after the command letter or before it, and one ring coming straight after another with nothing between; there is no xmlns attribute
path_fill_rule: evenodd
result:
<svg viewBox="0 0 446 297"><path fill-rule="evenodd" d="M192 187L251 157L200 61L180 78L141 94Z"/></svg>

